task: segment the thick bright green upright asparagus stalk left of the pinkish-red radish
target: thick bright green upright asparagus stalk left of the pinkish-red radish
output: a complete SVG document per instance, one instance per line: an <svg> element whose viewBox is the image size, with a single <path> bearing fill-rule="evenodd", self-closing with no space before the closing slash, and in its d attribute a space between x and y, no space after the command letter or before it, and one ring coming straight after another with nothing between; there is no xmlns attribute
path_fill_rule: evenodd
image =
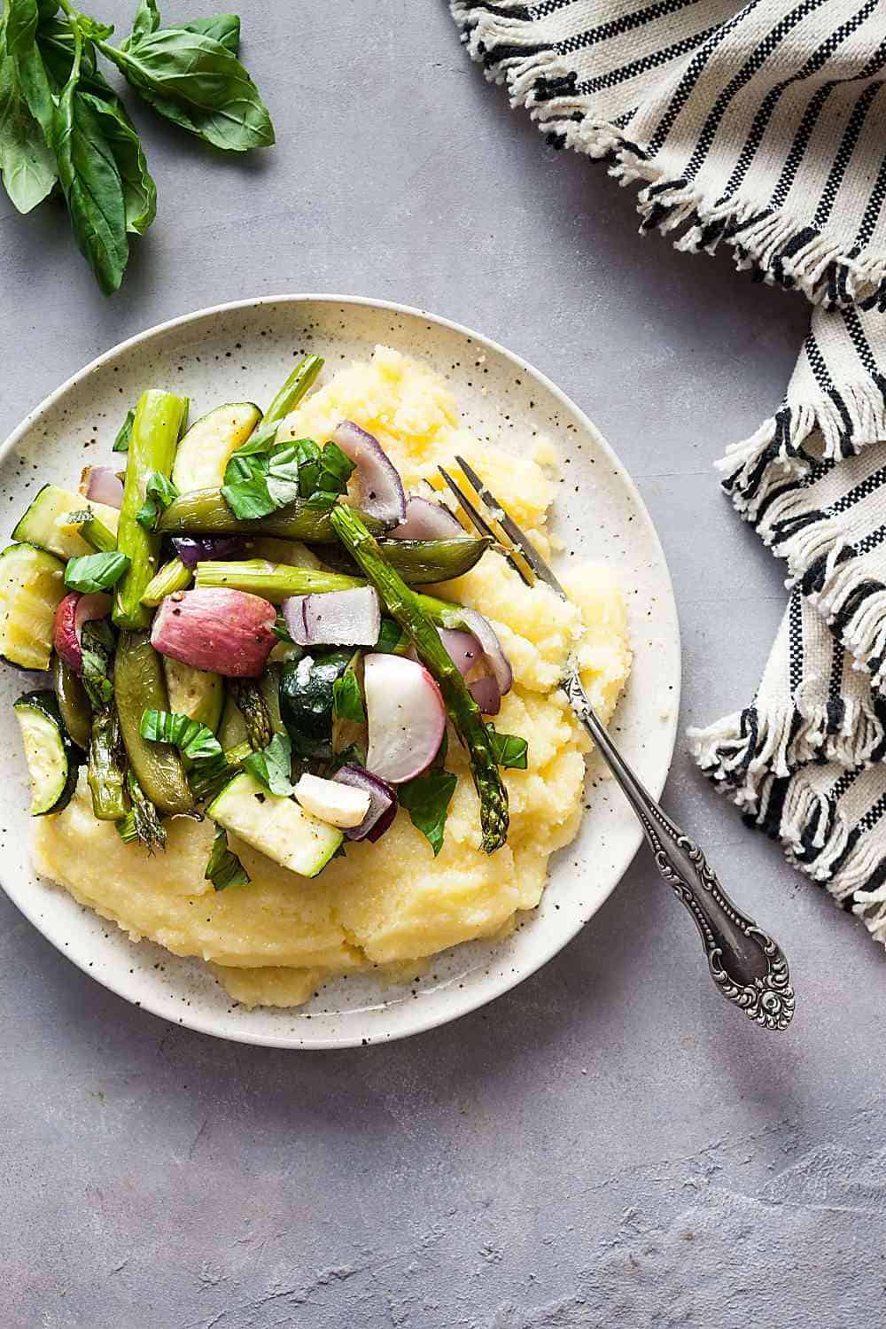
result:
<svg viewBox="0 0 886 1329"><path fill-rule="evenodd" d="M158 470L163 476L171 472L186 416L186 397L157 388L142 392L135 407L117 528L117 548L130 561L114 593L114 622L118 627L138 629L150 623L150 610L141 603L141 598L157 571L161 538L145 530L135 516L145 502L145 486L151 472Z"/></svg>

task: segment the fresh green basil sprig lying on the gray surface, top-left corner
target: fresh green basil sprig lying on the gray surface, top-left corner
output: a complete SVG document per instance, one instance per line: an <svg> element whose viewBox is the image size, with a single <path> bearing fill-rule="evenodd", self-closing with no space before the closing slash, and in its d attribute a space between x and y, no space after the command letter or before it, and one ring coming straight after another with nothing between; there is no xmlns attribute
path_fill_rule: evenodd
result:
<svg viewBox="0 0 886 1329"><path fill-rule="evenodd" d="M0 17L3 183L20 213L58 183L105 295L122 282L129 235L143 235L154 219L157 189L97 51L161 116L215 148L274 142L268 110L238 60L236 15L161 27L155 0L141 0L118 47L110 45L113 31L69 0L4 0Z"/></svg>

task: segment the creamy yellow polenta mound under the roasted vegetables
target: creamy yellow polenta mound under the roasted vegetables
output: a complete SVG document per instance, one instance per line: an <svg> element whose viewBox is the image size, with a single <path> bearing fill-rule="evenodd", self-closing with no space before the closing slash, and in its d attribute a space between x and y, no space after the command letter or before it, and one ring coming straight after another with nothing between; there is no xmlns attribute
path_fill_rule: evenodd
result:
<svg viewBox="0 0 886 1329"><path fill-rule="evenodd" d="M406 489L433 478L438 462L460 452L547 550L546 518L555 485L543 464L550 448L513 459L481 444L460 423L444 380L387 347L371 363L336 373L286 421L283 436L325 441L335 425L356 420L375 435ZM448 766L458 776L442 852L405 812L377 844L349 844L312 881L264 859L231 836L252 881L215 893L203 880L210 823L177 819L165 853L149 857L97 821L85 779L58 815L35 821L37 870L82 904L150 937L178 956L199 956L236 1001L291 1006L307 1001L331 974L402 965L478 937L506 934L517 910L534 908L550 855L578 831L588 748L562 694L553 691L563 661L579 653L594 706L608 719L627 678L631 653L624 605L614 574L574 569L574 603L547 587L529 590L498 554L437 587L437 594L481 610L494 623L514 668L513 691L495 723L529 740L529 769L503 773L510 833L494 855L480 851L480 808L458 743Z"/></svg>

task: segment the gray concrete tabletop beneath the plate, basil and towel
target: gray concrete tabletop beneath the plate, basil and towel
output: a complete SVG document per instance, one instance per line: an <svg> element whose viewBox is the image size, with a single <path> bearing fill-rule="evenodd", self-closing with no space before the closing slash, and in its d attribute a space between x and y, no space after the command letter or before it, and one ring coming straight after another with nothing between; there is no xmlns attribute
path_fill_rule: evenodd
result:
<svg viewBox="0 0 886 1329"><path fill-rule="evenodd" d="M100 9L122 23L132 4ZM671 562L683 723L743 703L784 591L711 462L778 401L801 299L640 241L630 194L507 110L440 0L240 11L279 148L217 161L137 112L161 214L120 295L97 295L53 209L0 205L0 433L97 352L199 306L283 290L425 306L595 417ZM368 1051L170 1027L0 900L0 1325L883 1324L883 956L684 755L668 796L789 950L789 1034L716 998L644 859L518 990Z"/></svg>

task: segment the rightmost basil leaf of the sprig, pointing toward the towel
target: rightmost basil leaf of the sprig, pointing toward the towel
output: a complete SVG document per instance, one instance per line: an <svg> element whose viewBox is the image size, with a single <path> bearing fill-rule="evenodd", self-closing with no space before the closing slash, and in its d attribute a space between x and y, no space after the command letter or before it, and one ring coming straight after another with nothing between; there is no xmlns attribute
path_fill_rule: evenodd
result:
<svg viewBox="0 0 886 1329"><path fill-rule="evenodd" d="M126 81L158 114L226 152L274 142L259 90L236 56L215 37L186 28L134 36L126 49L101 41Z"/></svg>

